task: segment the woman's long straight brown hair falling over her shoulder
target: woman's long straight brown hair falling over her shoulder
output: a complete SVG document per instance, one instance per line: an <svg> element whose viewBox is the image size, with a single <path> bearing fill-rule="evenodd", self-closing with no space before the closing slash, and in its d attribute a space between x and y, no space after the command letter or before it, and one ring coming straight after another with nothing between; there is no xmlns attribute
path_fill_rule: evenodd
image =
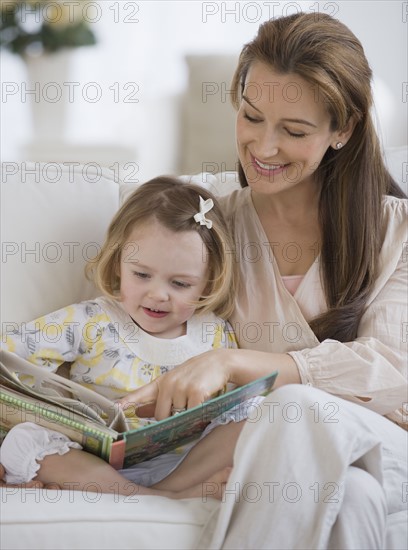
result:
<svg viewBox="0 0 408 550"><path fill-rule="evenodd" d="M405 196L384 164L373 125L371 69L359 40L325 14L296 14L261 25L244 46L233 77L236 108L254 62L309 82L327 106L332 131L345 128L350 117L356 122L346 146L330 147L316 171L320 269L328 310L310 323L320 341L351 341L377 276L383 196ZM239 175L241 186L247 186L241 165Z"/></svg>

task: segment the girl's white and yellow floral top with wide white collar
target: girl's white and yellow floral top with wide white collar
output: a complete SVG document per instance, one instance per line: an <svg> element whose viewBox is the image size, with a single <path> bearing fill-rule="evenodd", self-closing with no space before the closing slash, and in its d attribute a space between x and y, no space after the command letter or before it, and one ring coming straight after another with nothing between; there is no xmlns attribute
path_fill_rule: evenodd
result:
<svg viewBox="0 0 408 550"><path fill-rule="evenodd" d="M2 335L1 346L52 372L69 362L71 380L119 399L199 353L236 347L236 340L214 314L194 315L184 336L157 338L120 302L100 297L23 323Z"/></svg>

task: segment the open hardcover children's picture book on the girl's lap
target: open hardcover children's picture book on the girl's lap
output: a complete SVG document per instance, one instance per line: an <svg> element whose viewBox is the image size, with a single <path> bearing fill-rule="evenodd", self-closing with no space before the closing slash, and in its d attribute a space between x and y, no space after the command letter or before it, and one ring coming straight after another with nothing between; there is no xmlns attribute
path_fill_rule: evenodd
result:
<svg viewBox="0 0 408 550"><path fill-rule="evenodd" d="M164 420L127 429L114 401L0 350L0 433L34 422L64 433L114 468L127 468L197 439L216 417L272 390L277 372Z"/></svg>

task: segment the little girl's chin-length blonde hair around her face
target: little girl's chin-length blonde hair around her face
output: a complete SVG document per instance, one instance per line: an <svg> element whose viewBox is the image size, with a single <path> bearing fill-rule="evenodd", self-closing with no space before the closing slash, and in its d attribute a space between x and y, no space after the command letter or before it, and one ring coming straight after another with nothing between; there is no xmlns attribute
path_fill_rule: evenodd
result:
<svg viewBox="0 0 408 550"><path fill-rule="evenodd" d="M211 229L194 220L200 196L212 199L214 207L205 217ZM212 311L227 319L233 310L236 286L235 254L232 238L216 198L206 189L176 178L160 176L141 185L118 210L110 223L97 257L86 266L86 275L107 296L117 299L120 290L120 261L123 247L135 227L156 220L174 231L195 231L204 245L209 281L197 311Z"/></svg>

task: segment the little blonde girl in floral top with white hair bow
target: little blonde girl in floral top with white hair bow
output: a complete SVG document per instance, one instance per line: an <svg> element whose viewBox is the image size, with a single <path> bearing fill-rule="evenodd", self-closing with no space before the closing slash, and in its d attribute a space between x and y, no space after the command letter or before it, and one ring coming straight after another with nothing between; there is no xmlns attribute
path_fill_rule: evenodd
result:
<svg viewBox="0 0 408 550"><path fill-rule="evenodd" d="M70 362L72 380L110 399L126 396L198 353L236 345L223 321L234 299L233 245L218 205L202 188L169 177L142 185L112 220L87 275L102 297L45 315L25 327L24 338L15 333L2 345L50 371ZM175 413L195 404L180 393L169 405ZM242 407L234 420L241 417ZM143 419L134 417L130 427L141 424ZM195 482L190 487L188 479L175 493L134 482L160 481L187 452L122 471L125 478L66 436L23 423L5 438L0 462L9 484L35 480L79 490L92 480L102 492L182 498L201 489ZM217 468L215 463L211 469ZM227 474L223 470L212 480L223 481Z"/></svg>

